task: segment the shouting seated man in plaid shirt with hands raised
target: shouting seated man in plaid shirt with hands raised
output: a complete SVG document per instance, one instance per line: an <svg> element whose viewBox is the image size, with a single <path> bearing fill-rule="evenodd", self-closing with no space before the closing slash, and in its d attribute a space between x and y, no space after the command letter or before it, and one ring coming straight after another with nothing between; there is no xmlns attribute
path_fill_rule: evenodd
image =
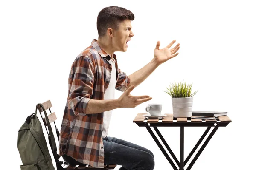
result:
<svg viewBox="0 0 256 170"><path fill-rule="evenodd" d="M127 51L134 36L131 21L134 14L121 7L102 9L97 17L98 40L82 51L73 62L69 91L60 135L60 156L70 164L122 165L119 170L153 170L153 153L136 144L109 137L108 127L113 109L134 108L152 98L131 96L160 64L178 55L179 44L169 50L154 50L154 58L140 70L127 76L117 65L115 51ZM114 90L124 91L114 99Z"/></svg>

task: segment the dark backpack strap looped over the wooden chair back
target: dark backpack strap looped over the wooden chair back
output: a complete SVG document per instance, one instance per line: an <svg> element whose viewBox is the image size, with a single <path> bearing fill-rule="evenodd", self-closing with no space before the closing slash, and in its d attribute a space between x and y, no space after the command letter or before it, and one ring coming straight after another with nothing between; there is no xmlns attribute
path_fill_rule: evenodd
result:
<svg viewBox="0 0 256 170"><path fill-rule="evenodd" d="M49 144L51 146L51 149L52 149L52 153L53 153L53 156L54 156L54 159L55 159L55 162L56 162L56 165L57 165L57 170L63 170L63 167L61 166L61 164L63 164L63 161L59 161L59 158L60 158L60 155L57 153L57 147L56 147L56 142L55 142L55 139L54 139L54 136L53 136L53 133L52 133L52 127L51 127L51 124L50 124L50 121L49 121L49 118L47 116L47 113L44 109L44 106L41 104L41 103L38 103L36 105L36 108L35 108L35 115L36 115L36 112L37 112L37 109L41 107L41 109L44 111L44 116L45 116L45 119L46 119L46 123L47 123L47 126L48 126L48 130L49 130L49 133L48 133L48 139L49 139ZM40 113L40 112L39 112ZM41 113L40 113L41 115ZM41 115L42 117L42 115ZM43 117L42 117L43 119ZM46 126L45 126L46 128ZM57 129L57 127L56 127ZM57 133L58 135L58 133Z"/></svg>

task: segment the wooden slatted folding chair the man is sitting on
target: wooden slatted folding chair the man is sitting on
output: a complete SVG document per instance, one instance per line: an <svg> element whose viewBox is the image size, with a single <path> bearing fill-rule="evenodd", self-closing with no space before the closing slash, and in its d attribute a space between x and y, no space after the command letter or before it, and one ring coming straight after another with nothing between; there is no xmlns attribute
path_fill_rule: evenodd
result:
<svg viewBox="0 0 256 170"><path fill-rule="evenodd" d="M57 117L56 117L56 114L53 112L52 113L52 111L51 111L51 107L52 107L52 103L51 103L51 101L50 100L47 100L46 102L44 102L44 103L42 103L42 104L40 104L40 105L42 105L43 107L44 107L44 110L45 111L47 111L48 109L49 109L49 111L50 111L50 114L49 115L47 115L47 114L44 114L44 115L47 115L47 117L48 117L48 119L49 119L49 123L52 123L52 122L54 122L55 120L57 120ZM44 126L45 126L45 128L47 127L47 119L44 117L43 118L43 116L42 116L42 114L41 114L41 112L43 112L44 110L41 108L41 106L40 106L39 104L37 105L37 108L38 108L38 110L39 110L39 112L40 112L40 115L41 115L41 117L42 117L42 119L43 119L43 122L44 122ZM59 137L59 131L58 131L58 129L57 129L57 127L56 127L56 124L55 124L55 122L54 122L54 125L55 125L55 129L56 129L56 133L57 133L57 136ZM51 128L51 127L50 127ZM49 130L49 127L48 127L48 130ZM47 131L47 128L46 128L46 131ZM48 131L47 131L47 133L48 133ZM48 133L48 136L49 136L49 133ZM51 146L52 147L52 146ZM85 166L79 166L79 165L76 165L76 166L72 166L72 165L70 165L70 164L68 164L67 162L63 162L63 161L58 161L58 159L59 159L59 155L58 154L55 154L54 156L56 156L57 155L57 162L56 162L56 164L57 164L57 169L59 170L77 170L77 169L79 169L79 170L113 170L113 169L115 169L115 167L116 167L116 165L104 165L104 168L95 168L95 167L92 167L92 166L90 166L90 165L85 165ZM55 159L56 160L56 159Z"/></svg>

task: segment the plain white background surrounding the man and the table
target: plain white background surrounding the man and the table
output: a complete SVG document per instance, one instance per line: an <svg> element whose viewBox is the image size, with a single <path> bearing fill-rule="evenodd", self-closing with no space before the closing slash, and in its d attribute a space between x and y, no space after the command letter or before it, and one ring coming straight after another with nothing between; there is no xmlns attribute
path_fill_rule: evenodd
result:
<svg viewBox="0 0 256 170"><path fill-rule="evenodd" d="M160 48L164 48L176 39L180 54L160 65L131 92L135 96L149 95L151 101L113 111L108 136L150 149L155 156L155 170L172 169L146 128L138 127L133 119L137 113L145 113L147 103L162 103L162 113L172 113L171 97L163 91L169 83L184 80L193 83L192 91L198 90L194 111L227 111L232 119L227 127L217 130L192 169L252 169L256 158L256 11L252 2L1 1L2 168L12 166L18 170L22 164L17 149L18 130L35 112L37 103L51 100L60 129L71 65L93 38L98 38L99 11L115 5L135 15L131 22L134 37L128 42L128 50L116 52L122 71L129 75L150 62L158 40ZM115 97L121 94L116 91ZM184 129L186 159L206 127ZM179 159L180 128L159 130Z"/></svg>

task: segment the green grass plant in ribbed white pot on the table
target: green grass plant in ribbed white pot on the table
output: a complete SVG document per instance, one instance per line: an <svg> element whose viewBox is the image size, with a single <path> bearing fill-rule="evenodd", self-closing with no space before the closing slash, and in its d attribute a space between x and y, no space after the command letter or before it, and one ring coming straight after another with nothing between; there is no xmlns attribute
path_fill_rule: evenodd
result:
<svg viewBox="0 0 256 170"><path fill-rule="evenodd" d="M197 93L195 91L191 94L192 84L186 85L186 82L180 82L169 85L166 92L172 96L172 111L174 117L191 117L193 96Z"/></svg>

